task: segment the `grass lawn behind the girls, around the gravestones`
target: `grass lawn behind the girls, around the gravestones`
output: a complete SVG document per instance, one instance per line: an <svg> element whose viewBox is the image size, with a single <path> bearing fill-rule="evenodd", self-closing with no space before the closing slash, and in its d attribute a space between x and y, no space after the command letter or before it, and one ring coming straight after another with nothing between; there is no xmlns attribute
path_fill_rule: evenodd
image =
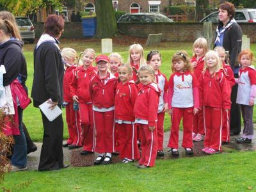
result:
<svg viewBox="0 0 256 192"><path fill-rule="evenodd" d="M142 45L145 45L145 42L143 42L143 40L140 39L138 41ZM116 40L116 42L118 42L118 40ZM148 51L159 50L162 54L161 71L164 74L166 74L166 76L169 78L171 74L170 61L171 61L172 55L177 51L186 50L191 56L192 45L193 43L190 43L190 42L163 42L160 45L158 45L158 47L146 47L145 55L147 55ZM34 47L35 47L35 44L26 44L24 46L24 54L28 63L27 86L28 86L29 92L31 92L31 86L33 82L33 48ZM63 40L63 42L61 42L60 44L60 47L61 49L63 47L74 47L74 49L76 49L77 52L82 52L84 51L84 49L88 47L93 47L93 49L95 49L95 51L98 52L97 54L99 54L100 42L93 41L93 40L86 40L86 41L81 40L81 42ZM251 47L252 47L252 51L256 52L256 44L252 44ZM113 51L119 52L124 57L124 61L127 61L127 57L129 55L128 49L129 49L129 44L127 44L127 42L126 44L124 42L120 42L120 44L115 44L115 42L113 42ZM255 110L256 108L254 109L254 111ZM23 119L28 128L31 138L34 141L42 141L43 125L42 125L42 119L41 119L39 109L34 108L33 104L29 105L29 107L26 110L24 110ZM67 139L68 132L67 132L67 124L65 122L65 109L63 110L63 120L64 120L64 138ZM253 114L253 122L256 122L256 113ZM168 131L169 129L170 129L170 116L166 114L164 118L164 130Z"/></svg>

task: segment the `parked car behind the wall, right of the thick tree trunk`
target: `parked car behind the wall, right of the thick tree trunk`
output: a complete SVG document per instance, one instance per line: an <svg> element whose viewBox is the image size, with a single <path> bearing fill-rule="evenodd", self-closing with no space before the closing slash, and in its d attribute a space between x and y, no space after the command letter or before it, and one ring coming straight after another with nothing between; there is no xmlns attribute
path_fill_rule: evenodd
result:
<svg viewBox="0 0 256 192"><path fill-rule="evenodd" d="M173 22L161 13L126 13L117 22Z"/></svg>

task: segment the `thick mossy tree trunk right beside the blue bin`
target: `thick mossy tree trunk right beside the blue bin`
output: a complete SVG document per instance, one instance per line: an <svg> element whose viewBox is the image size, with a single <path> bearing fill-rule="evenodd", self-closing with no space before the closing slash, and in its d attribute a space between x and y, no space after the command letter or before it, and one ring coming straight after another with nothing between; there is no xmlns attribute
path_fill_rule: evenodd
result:
<svg viewBox="0 0 256 192"><path fill-rule="evenodd" d="M97 38L109 38L117 32L116 18L111 0L95 0Z"/></svg>

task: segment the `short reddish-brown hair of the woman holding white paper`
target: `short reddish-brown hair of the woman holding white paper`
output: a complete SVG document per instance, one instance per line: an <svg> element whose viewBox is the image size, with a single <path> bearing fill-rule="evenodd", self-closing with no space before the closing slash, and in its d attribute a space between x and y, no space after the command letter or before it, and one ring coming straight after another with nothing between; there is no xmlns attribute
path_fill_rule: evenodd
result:
<svg viewBox="0 0 256 192"><path fill-rule="evenodd" d="M44 33L56 37L64 29L64 19L59 15L49 15L44 23Z"/></svg>

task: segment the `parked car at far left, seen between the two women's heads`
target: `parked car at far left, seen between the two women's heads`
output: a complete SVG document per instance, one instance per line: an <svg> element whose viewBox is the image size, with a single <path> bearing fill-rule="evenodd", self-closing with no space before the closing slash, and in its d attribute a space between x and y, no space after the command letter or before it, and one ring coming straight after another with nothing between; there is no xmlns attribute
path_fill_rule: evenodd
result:
<svg viewBox="0 0 256 192"><path fill-rule="evenodd" d="M20 29L22 40L33 44L35 42L35 28L31 20L28 17L15 17L15 19Z"/></svg>

